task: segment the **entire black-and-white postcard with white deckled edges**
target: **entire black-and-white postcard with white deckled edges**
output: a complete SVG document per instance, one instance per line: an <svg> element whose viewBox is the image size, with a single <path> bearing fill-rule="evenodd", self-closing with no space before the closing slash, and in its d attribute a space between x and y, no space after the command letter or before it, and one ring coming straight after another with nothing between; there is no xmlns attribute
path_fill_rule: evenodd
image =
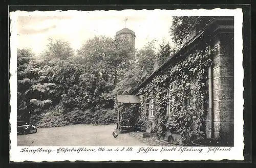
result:
<svg viewBox="0 0 256 168"><path fill-rule="evenodd" d="M242 9L10 12L10 160L244 160Z"/></svg>

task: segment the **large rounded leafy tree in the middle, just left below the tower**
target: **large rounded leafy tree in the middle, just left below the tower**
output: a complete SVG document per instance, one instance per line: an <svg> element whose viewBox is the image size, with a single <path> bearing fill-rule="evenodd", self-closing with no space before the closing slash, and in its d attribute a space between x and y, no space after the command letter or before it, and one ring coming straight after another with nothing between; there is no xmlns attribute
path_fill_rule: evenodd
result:
<svg viewBox="0 0 256 168"><path fill-rule="evenodd" d="M76 82L61 96L63 104L70 109L91 109L92 113L113 108L111 93L134 62L134 52L130 43L110 37L99 36L85 41L73 59L76 70L71 74L76 75L69 78ZM66 69L70 66L65 65Z"/></svg>

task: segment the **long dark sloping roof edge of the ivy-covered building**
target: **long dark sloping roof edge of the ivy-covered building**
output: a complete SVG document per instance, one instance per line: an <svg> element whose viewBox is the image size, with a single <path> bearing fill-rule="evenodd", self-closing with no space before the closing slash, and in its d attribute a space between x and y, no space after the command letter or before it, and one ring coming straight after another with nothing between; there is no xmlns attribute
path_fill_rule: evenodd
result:
<svg viewBox="0 0 256 168"><path fill-rule="evenodd" d="M153 72L150 76L148 76L148 78L146 78L137 88L135 88L134 90L132 90L130 92L131 95L134 95L136 93L138 93L139 89L143 86L145 86L149 81L151 81L156 75L160 74L160 72L162 72L166 67L170 66L170 65L174 65L176 64L179 60L184 58L184 55L182 55L182 53L184 53L186 51L186 49L189 48L189 46L191 46L193 43L195 43L198 40L201 40L201 37L205 37L204 33L206 31L209 30L210 25L212 25L213 23L215 23L216 21L224 21L227 22L227 20L233 20L233 17L219 17L219 18L215 18L212 19L194 38L192 38L191 40L189 40L183 47L181 47L174 55L172 55L161 67L159 67L155 72ZM214 28L214 31L217 31L218 28ZM183 57L182 57L183 56Z"/></svg>

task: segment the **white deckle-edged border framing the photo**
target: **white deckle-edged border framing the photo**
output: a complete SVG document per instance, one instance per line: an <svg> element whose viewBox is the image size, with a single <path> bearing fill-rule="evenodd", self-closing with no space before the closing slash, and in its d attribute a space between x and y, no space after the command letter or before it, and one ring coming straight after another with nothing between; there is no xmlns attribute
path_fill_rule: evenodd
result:
<svg viewBox="0 0 256 168"><path fill-rule="evenodd" d="M163 16L234 16L234 147L230 151L222 152L209 152L207 153L208 147L193 147L193 149L203 149L202 152L182 152L181 151L169 151L169 152L148 152L148 153L137 153L139 147L133 147L135 152L80 152L80 153L58 153L57 149L60 147L28 147L30 149L51 149L52 152L32 152L21 153L21 149L25 147L17 147L17 135L16 135L16 118L17 118L17 17L18 16L79 16L84 13L90 13L95 16L110 16L121 15L121 16L136 16L136 15L147 15L148 17L154 16L154 13L161 13ZM104 14L102 14L104 13ZM244 160L243 149L244 149L244 137L243 137L243 77L244 70L242 66L243 62L243 39L242 39L242 23L243 13L242 9L193 9L193 10L160 10L155 9L152 11L148 10L123 10L123 11L16 11L10 13L11 26L10 26L10 92L11 92L11 133L10 133L10 160L15 162L28 161L131 161L131 160ZM65 147L66 148L66 147ZM79 147L68 147L79 148ZM98 149L98 147L85 147L88 149ZM105 147L105 149L116 149L117 147ZM127 147L126 147L127 148ZM145 147L146 148L146 147ZM162 147L153 147L154 149L162 149ZM177 147L179 148L179 147ZM225 147L228 149L228 147ZM119 147L122 149L122 147Z"/></svg>

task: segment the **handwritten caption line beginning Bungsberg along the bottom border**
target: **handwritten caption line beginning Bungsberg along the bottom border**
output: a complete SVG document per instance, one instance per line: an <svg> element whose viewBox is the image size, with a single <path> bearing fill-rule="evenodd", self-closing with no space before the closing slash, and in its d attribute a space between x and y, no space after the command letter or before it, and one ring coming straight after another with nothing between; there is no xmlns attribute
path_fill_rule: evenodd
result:
<svg viewBox="0 0 256 168"><path fill-rule="evenodd" d="M82 152L136 152L136 153L163 153L163 152L198 152L206 151L206 153L216 153L220 151L230 151L232 147L116 147L116 148L107 148L107 147L97 147L97 148L88 148L88 147L78 147L78 148L68 148L68 147L60 147L58 149L46 149L46 148L22 148L20 152L22 153L57 153L57 154L65 154L65 153L82 153Z"/></svg>

